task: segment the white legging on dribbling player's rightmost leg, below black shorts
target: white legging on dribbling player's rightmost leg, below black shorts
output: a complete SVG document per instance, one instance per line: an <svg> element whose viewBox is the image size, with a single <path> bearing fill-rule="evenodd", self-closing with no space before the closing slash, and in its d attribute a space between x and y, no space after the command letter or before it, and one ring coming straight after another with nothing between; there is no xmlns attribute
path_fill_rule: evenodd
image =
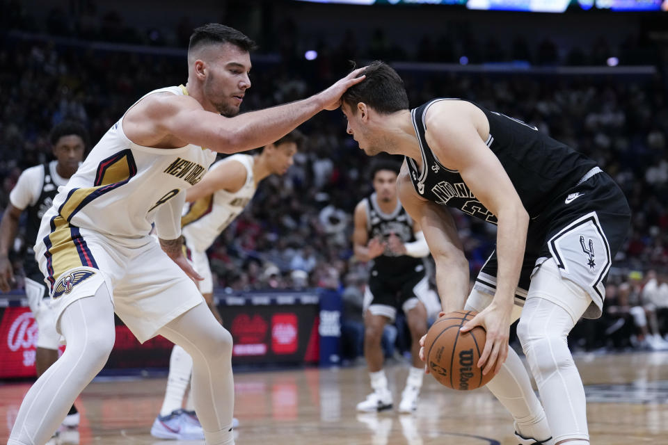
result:
<svg viewBox="0 0 668 445"><path fill-rule="evenodd" d="M532 280L517 327L555 442L589 439L582 379L566 336L577 321L572 314L583 314L590 302L584 290L559 277L556 265L543 264Z"/></svg>

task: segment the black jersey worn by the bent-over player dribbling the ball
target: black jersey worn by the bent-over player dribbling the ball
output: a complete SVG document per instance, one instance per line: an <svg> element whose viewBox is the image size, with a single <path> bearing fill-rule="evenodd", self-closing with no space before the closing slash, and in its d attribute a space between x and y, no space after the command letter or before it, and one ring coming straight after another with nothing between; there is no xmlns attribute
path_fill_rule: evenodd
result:
<svg viewBox="0 0 668 445"><path fill-rule="evenodd" d="M497 218L479 202L456 170L440 164L424 137L424 115L433 99L411 111L422 152L422 172L406 157L413 186L420 196L437 204L460 209L475 218L496 224ZM480 108L489 121L486 145L503 165L530 218L536 218L559 193L575 186L596 163L539 132L525 122Z"/></svg>

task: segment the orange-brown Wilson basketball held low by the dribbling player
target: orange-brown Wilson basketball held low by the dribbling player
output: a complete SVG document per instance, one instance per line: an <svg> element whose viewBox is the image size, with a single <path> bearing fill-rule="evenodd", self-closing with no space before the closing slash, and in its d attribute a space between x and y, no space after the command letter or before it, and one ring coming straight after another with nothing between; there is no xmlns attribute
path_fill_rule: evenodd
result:
<svg viewBox="0 0 668 445"><path fill-rule="evenodd" d="M486 385L494 376L492 372L483 375L482 369L477 366L485 348L485 330L480 326L469 332L459 330L476 314L475 311L448 312L438 318L427 332L424 358L429 373L441 385L468 391Z"/></svg>

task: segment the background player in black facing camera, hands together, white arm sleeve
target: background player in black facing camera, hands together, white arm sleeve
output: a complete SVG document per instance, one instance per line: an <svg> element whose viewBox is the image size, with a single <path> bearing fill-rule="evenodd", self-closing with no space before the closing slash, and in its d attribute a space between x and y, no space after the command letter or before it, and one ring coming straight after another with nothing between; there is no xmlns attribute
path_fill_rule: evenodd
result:
<svg viewBox="0 0 668 445"><path fill-rule="evenodd" d="M427 309L420 297L429 289L422 260L429 248L420 225L408 216L397 197L399 168L399 163L389 160L374 163L374 193L355 208L355 256L361 261L374 261L364 296L364 356L374 391L358 403L358 411L392 408L381 339L385 324L395 320L397 308L403 309L411 331L413 364L401 394L399 412L415 411L424 376L419 352L420 338L427 333Z"/></svg>

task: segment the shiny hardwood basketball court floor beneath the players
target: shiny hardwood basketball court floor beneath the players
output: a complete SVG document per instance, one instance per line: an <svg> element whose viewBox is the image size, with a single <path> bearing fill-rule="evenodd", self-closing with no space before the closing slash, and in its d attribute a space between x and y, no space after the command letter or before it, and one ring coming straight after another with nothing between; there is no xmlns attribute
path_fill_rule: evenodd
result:
<svg viewBox="0 0 668 445"><path fill-rule="evenodd" d="M578 355L592 444L668 445L668 353ZM395 405L408 365L387 369ZM79 397L78 437L54 444L202 444L154 439L150 426L166 378L100 378ZM0 441L6 442L29 384L0 385ZM364 367L235 375L237 444L516 445L510 415L486 389L440 387L427 376L417 413L358 413L369 392ZM77 442L77 439L79 442Z"/></svg>

